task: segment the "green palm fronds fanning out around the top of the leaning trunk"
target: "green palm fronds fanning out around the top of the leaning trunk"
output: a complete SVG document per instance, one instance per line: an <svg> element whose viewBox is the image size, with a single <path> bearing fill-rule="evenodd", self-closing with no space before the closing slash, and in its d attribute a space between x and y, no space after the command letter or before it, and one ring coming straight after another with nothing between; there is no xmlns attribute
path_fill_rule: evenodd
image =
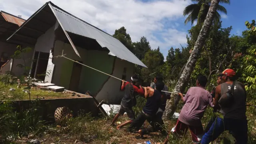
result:
<svg viewBox="0 0 256 144"><path fill-rule="evenodd" d="M200 24L201 22L204 22L206 18L206 15L210 8L211 0L192 0L192 1L197 2L197 4L190 4L183 11L184 16L188 15L188 17L185 20L185 24L191 21L191 25L192 25L196 20ZM229 0L220 0L220 3L229 4L230 2ZM217 11L227 14L226 8L224 8L219 4L217 6ZM216 12L214 14L214 23L219 23L220 19L221 19L220 14Z"/></svg>

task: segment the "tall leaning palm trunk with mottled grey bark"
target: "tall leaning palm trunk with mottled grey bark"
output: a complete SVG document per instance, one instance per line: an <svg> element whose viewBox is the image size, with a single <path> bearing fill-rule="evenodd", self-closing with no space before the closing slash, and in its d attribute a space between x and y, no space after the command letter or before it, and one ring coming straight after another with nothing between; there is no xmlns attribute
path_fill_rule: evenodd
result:
<svg viewBox="0 0 256 144"><path fill-rule="evenodd" d="M220 0L212 0L208 14L206 16L206 19L204 20L204 24L202 26L202 29L200 30L200 34L196 40L196 44L194 46L193 51L190 54L190 57L188 59L188 62L180 76L180 79L178 80L174 92L183 92L186 88L186 85L188 84L188 80L190 78L190 75L192 71L194 70L196 61L198 60L198 57L200 56L200 52L202 50L202 47L204 46L205 40L210 33L210 27L212 26L212 21L214 18L214 14L217 10L217 6L219 4ZM171 100L168 100L166 102L166 110L164 112L163 117L170 118L172 116L177 108L178 102L180 100L179 96L175 96Z"/></svg>

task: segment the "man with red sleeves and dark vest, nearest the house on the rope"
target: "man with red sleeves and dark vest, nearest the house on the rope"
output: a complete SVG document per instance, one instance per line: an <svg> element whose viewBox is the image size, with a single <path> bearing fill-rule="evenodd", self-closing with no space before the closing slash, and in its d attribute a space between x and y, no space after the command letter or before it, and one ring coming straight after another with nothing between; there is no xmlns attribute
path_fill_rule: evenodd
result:
<svg viewBox="0 0 256 144"><path fill-rule="evenodd" d="M118 125L116 128L119 130L122 126L125 126L127 124L130 124L134 119L135 115L132 110L132 106L134 106L134 99L136 100L135 96L137 94L144 95L144 90L141 86L138 88L135 83L138 81L138 76L136 74L132 75L131 82L124 82L122 80L122 86L121 90L124 90L124 97L121 101L121 107L119 112L116 114L114 119L112 120L112 123L110 125L114 125L115 121L118 119L119 116L123 115L124 112L126 112L127 116L130 120L127 120L123 124Z"/></svg>

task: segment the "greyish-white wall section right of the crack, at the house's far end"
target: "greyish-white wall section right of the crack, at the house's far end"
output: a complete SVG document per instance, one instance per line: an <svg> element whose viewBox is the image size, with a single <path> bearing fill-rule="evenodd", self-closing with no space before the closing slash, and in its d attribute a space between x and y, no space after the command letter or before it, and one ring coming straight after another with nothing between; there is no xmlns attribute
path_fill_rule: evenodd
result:
<svg viewBox="0 0 256 144"><path fill-rule="evenodd" d="M131 62L116 58L112 76L122 78L123 70L126 68L126 81L130 82L131 76L134 73L134 66L135 65ZM118 104L117 102L120 102L124 96L124 92L120 91L120 86L120 80L110 77L100 92L97 94L96 99L99 102L104 100L110 104Z"/></svg>

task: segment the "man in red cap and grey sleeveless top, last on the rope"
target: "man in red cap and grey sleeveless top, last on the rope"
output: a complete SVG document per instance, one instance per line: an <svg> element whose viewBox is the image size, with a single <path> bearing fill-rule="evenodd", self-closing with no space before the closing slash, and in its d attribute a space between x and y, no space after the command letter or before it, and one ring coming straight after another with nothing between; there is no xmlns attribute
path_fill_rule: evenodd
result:
<svg viewBox="0 0 256 144"><path fill-rule="evenodd" d="M210 130L202 137L201 144L209 144L226 130L234 136L236 144L247 143L246 90L244 84L234 81L235 75L236 72L232 69L226 69L220 74L225 82L216 87L214 106L220 104L220 98L226 98L225 104L220 105L220 113L224 119L216 118Z"/></svg>

